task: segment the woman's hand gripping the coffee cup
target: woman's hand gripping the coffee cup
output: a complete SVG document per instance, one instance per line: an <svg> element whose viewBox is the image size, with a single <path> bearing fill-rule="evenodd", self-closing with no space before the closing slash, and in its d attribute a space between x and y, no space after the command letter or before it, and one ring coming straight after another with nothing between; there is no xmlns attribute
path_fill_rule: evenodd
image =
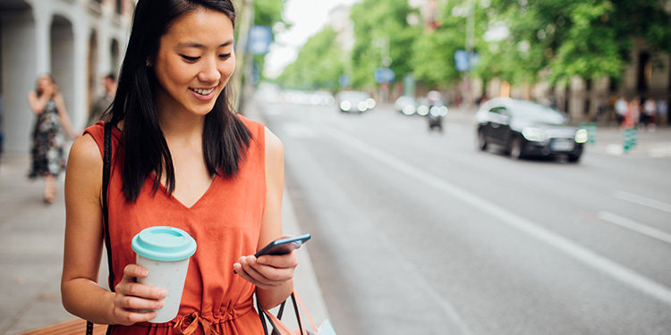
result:
<svg viewBox="0 0 671 335"><path fill-rule="evenodd" d="M147 269L136 264L128 264L123 269L123 279L115 286L115 306L112 311L117 324L147 322L155 318L157 313L140 313L139 309L156 310L163 307L163 298L167 295L165 289L136 282L138 278L145 278L148 274Z"/></svg>

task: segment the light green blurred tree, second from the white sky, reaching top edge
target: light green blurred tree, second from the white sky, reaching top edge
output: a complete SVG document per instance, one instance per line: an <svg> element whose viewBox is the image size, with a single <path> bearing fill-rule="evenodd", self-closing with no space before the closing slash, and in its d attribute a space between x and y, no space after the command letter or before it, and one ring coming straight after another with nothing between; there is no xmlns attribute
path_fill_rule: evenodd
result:
<svg viewBox="0 0 671 335"><path fill-rule="evenodd" d="M408 23L408 16L416 13L407 0L362 0L352 5L350 18L354 24L352 71L348 73L353 88L371 88L376 85L373 72L383 65L388 50L389 67L396 79L412 72L414 41L419 28ZM387 49L388 47L388 49Z"/></svg>

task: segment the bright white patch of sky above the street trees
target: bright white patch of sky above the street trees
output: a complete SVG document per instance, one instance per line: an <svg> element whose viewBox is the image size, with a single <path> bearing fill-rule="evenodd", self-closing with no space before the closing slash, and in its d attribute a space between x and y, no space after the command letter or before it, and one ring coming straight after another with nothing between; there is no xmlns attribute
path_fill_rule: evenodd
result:
<svg viewBox="0 0 671 335"><path fill-rule="evenodd" d="M324 28L332 9L356 2L358 0L288 0L284 18L293 26L277 34L275 43L266 55L264 75L276 78L286 65L293 63L301 46Z"/></svg>

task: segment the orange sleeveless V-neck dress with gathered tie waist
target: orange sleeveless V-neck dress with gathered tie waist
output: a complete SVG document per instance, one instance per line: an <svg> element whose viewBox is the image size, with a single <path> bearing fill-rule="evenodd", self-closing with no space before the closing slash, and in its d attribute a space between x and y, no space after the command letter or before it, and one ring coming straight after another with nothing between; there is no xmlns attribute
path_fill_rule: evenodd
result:
<svg viewBox="0 0 671 335"><path fill-rule="evenodd" d="M145 180L137 202L126 202L121 132L113 128L107 201L115 285L123 277L123 268L135 264L131 240L140 230L158 225L177 227L196 239L198 249L191 256L179 314L173 321L112 325L112 334L216 334L212 330L221 335L263 333L252 304L255 287L233 272L233 264L242 255L256 252L266 198L264 126L240 118L252 139L239 174L234 179L217 176L191 207L168 195L163 185L152 194L151 177ZM86 130L98 143L101 154L104 131L102 121Z"/></svg>

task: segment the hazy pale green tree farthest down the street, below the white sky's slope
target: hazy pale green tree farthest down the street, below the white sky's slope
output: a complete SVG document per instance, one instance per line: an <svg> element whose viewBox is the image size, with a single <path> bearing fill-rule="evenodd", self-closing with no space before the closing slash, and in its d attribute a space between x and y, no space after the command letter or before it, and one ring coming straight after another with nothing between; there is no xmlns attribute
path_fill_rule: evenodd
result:
<svg viewBox="0 0 671 335"><path fill-rule="evenodd" d="M338 78L344 72L343 50L335 37L335 31L330 27L315 34L276 82L285 88L325 88L332 92L340 89Z"/></svg>

